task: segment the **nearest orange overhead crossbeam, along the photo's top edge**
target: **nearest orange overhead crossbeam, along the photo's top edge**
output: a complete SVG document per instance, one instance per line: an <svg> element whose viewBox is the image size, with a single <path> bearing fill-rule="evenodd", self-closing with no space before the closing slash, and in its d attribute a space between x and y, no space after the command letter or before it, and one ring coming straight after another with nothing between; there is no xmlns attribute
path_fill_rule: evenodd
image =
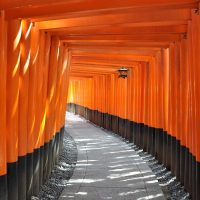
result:
<svg viewBox="0 0 200 200"><path fill-rule="evenodd" d="M12 2L12 3L11 3ZM195 0L170 0L163 2L160 0L12 0L6 4L6 1L0 2L1 9L6 10L7 18L36 18L43 21L44 19L60 19L77 16L91 16L95 13L105 14L116 12L123 9L175 9L175 8L197 8ZM156 11L154 10L154 11Z"/></svg>

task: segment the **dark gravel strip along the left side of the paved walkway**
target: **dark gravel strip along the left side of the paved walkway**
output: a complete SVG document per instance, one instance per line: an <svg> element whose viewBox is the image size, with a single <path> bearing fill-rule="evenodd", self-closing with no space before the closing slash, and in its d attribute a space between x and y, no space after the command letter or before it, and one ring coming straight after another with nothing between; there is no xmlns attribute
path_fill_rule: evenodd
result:
<svg viewBox="0 0 200 200"><path fill-rule="evenodd" d="M57 200L66 187L68 180L73 175L77 162L77 147L74 139L65 131L63 139L63 151L60 154L58 164L51 173L49 180L41 186L38 197L31 200Z"/></svg>

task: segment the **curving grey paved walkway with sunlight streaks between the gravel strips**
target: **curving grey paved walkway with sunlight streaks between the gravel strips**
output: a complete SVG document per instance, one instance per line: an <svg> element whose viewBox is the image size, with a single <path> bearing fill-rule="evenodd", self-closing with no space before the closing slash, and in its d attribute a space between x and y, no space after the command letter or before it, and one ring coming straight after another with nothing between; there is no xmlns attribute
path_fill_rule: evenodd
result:
<svg viewBox="0 0 200 200"><path fill-rule="evenodd" d="M131 145L73 114L67 122L78 161L60 200L165 199L155 175Z"/></svg>

